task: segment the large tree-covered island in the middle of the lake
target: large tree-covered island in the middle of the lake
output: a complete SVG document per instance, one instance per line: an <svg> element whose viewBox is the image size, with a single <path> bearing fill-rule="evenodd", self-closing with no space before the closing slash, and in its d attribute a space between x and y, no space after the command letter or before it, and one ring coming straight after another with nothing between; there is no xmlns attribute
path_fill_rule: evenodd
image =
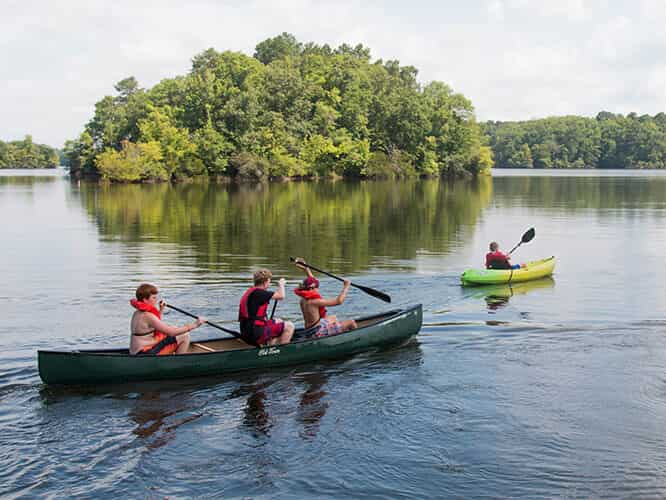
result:
<svg viewBox="0 0 666 500"><path fill-rule="evenodd" d="M492 165L471 102L369 49L283 33L253 57L208 49L188 74L143 89L129 77L66 143L75 176L438 176Z"/></svg>

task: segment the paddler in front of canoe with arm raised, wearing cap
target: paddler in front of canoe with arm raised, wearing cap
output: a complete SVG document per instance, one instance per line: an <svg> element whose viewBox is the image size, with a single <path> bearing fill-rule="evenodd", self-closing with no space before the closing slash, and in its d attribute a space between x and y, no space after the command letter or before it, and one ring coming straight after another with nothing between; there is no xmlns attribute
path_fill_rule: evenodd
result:
<svg viewBox="0 0 666 500"><path fill-rule="evenodd" d="M351 282L344 280L340 294L334 299L325 299L319 293L319 280L314 277L305 261L298 258L295 264L307 273L307 277L294 290L294 293L301 298L300 306L305 328L319 326L314 334L315 337L337 335L358 328L353 319L338 321L334 315L329 316L326 312L326 307L339 306L345 301Z"/></svg>

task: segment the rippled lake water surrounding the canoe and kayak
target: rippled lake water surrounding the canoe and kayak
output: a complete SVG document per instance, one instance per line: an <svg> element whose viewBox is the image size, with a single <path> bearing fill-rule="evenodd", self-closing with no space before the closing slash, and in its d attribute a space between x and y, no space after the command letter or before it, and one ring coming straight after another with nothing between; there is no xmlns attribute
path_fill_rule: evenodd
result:
<svg viewBox="0 0 666 500"><path fill-rule="evenodd" d="M664 173L170 187L4 171L0 223L9 497L666 496ZM514 260L555 255L553 279L460 287L489 241L532 226ZM37 349L127 344L142 281L235 328L253 269L302 277L289 256L422 303L421 333L270 373L41 383ZM352 289L336 313L388 307ZM296 297L277 315L298 321Z"/></svg>

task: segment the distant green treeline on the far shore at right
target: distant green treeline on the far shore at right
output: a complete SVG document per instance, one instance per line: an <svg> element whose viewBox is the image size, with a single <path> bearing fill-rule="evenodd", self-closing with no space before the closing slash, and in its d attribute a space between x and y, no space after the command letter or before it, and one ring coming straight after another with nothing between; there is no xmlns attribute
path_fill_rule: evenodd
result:
<svg viewBox="0 0 666 500"><path fill-rule="evenodd" d="M666 114L486 122L499 168L666 168Z"/></svg>

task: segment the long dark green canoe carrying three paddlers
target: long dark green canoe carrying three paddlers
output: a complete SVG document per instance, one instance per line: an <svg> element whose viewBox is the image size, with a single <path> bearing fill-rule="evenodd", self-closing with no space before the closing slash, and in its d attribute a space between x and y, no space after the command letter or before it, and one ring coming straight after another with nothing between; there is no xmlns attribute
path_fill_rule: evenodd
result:
<svg viewBox="0 0 666 500"><path fill-rule="evenodd" d="M404 342L421 329L421 304L357 319L358 328L309 338L296 330L287 345L253 347L236 338L194 342L177 356L130 356L127 349L38 351L39 376L46 384L103 384L179 379L333 359Z"/></svg>

